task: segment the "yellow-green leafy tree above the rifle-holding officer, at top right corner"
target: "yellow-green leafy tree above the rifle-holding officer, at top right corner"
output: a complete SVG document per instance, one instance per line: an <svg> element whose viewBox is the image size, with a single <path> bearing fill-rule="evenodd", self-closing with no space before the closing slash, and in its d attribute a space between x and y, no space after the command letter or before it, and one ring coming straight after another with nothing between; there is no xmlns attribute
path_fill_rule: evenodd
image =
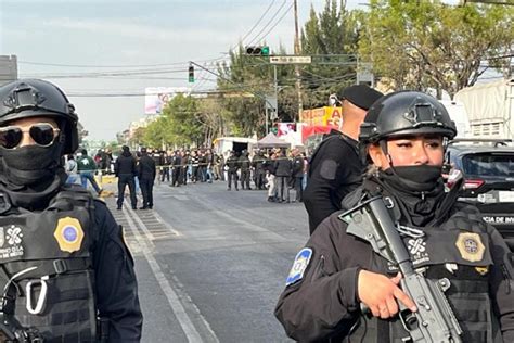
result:
<svg viewBox="0 0 514 343"><path fill-rule="evenodd" d="M372 0L361 18L359 52L396 89L432 87L453 98L476 82L484 61L511 50L513 17L514 9L501 5Z"/></svg>

